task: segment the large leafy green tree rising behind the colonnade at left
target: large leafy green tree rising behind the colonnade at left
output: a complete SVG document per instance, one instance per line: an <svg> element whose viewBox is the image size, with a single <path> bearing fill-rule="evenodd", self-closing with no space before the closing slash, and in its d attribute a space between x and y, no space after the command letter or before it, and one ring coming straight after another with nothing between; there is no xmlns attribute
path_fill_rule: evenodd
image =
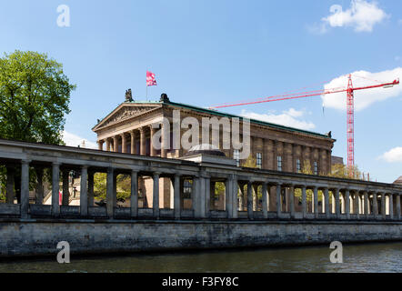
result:
<svg viewBox="0 0 402 291"><path fill-rule="evenodd" d="M63 145L74 89L63 65L47 55L5 54L0 58L0 138Z"/></svg>

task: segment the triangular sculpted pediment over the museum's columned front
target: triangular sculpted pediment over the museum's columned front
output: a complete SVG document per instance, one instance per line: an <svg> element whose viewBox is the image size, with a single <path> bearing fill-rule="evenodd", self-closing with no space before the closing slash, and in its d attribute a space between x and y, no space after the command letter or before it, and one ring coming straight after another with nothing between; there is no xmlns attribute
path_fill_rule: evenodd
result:
<svg viewBox="0 0 402 291"><path fill-rule="evenodd" d="M109 125L116 125L118 123L124 122L126 120L135 118L140 115L145 115L151 111L157 110L161 105L130 105L122 104L119 105L113 112L107 115L101 122L99 122L93 128L94 131L100 128L104 128Z"/></svg>

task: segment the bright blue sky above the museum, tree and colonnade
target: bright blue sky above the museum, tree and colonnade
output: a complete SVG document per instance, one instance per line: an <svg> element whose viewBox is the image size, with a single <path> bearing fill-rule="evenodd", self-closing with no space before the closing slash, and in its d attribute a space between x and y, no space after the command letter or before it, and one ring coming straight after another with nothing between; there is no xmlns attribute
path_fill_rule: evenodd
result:
<svg viewBox="0 0 402 291"><path fill-rule="evenodd" d="M70 8L69 27L56 24L58 5ZM0 52L45 52L64 65L77 85L65 131L88 142L95 142L96 119L123 102L127 88L145 99L146 69L158 82L151 99L165 92L203 107L320 89L357 71L392 81L402 67L401 33L399 0L0 3ZM356 164L393 182L402 175L402 91L380 90L356 93ZM325 110L318 96L224 111L332 131L333 154L346 159L344 97L333 98Z"/></svg>

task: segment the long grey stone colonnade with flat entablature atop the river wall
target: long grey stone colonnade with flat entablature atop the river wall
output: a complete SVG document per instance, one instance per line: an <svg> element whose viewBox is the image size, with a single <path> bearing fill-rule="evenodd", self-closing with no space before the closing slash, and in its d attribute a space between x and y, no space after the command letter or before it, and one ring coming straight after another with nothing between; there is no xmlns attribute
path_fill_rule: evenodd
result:
<svg viewBox="0 0 402 291"><path fill-rule="evenodd" d="M0 166L7 169L6 203L0 204L0 217L95 220L353 220L362 223L373 220L401 221L402 186L385 183L2 139ZM51 206L44 206L42 200L44 168L51 169ZM79 206L68 205L70 193L66 184L67 173L70 171L79 173L81 177ZM16 173L20 173L21 182L18 203L14 204L16 187L14 189L13 185ZM36 173L37 182L35 204L29 200L29 181L30 178L32 180L30 175L33 173ZM94 206L95 173L106 173L105 207ZM130 206L126 208L116 206L118 175L131 177ZM145 176L152 179L153 183L150 208L138 205L138 179ZM170 179L173 192L172 203L167 208L161 207L159 201L159 183L164 178ZM191 209L183 207L184 179L192 181ZM223 210L214 209L211 201L216 182L225 185ZM63 190L61 203L60 188Z"/></svg>

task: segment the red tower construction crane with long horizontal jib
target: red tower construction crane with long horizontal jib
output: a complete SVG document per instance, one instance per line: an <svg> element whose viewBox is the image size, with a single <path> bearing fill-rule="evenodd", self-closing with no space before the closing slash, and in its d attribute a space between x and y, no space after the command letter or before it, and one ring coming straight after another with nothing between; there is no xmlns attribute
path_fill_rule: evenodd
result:
<svg viewBox="0 0 402 291"><path fill-rule="evenodd" d="M241 106L241 105L253 105L253 104L259 104L259 103L266 103L266 102L274 102L274 101L290 100L290 99L297 99L297 98L306 98L306 97L317 96L317 95L328 95L328 94L334 94L334 93L347 92L347 166L349 167L349 169L353 169L353 167L355 166L355 104L354 104L355 91L378 88L378 87L387 88L387 87L392 87L392 86L398 85L398 84L399 84L399 79L394 80L391 83L367 85L367 86L361 86L361 87L354 88L353 84L352 84L352 75L349 74L347 88L342 87L342 88L299 92L299 93L292 93L292 94L286 94L286 95L274 95L274 96L260 98L260 99L256 99L256 100L252 100L252 101L214 105L214 106L209 107L209 109L219 109L219 108ZM353 175L352 171L350 171L350 175Z"/></svg>

